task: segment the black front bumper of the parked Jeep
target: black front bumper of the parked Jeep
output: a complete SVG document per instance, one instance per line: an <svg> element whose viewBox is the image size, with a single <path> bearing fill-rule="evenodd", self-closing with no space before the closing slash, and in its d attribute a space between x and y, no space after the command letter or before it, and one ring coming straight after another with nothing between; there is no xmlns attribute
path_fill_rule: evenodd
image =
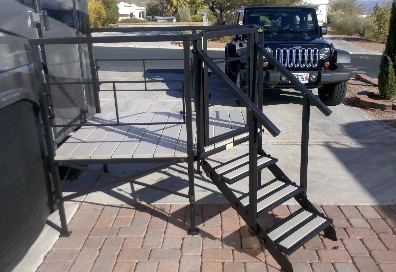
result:
<svg viewBox="0 0 396 272"><path fill-rule="evenodd" d="M340 71L290 71L291 73L299 73L299 74L309 74L316 75L314 80L309 80L308 83L303 83L305 85L323 85L329 83L339 83L343 81L348 81L350 79L351 73L350 71L340 70ZM290 85L290 82L286 80L282 80L282 74L279 71L275 70L264 70L264 84L267 85Z"/></svg>

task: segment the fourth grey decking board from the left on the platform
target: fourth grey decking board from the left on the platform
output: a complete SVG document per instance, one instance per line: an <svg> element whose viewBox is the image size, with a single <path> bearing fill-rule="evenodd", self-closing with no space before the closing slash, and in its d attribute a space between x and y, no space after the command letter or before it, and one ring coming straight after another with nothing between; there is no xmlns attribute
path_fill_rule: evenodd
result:
<svg viewBox="0 0 396 272"><path fill-rule="evenodd" d="M155 113L151 111L142 112L136 119L136 123L149 123ZM113 159L130 159L133 152L139 144L142 136L145 134L148 125L131 126L128 133L118 145L116 151L111 156Z"/></svg>

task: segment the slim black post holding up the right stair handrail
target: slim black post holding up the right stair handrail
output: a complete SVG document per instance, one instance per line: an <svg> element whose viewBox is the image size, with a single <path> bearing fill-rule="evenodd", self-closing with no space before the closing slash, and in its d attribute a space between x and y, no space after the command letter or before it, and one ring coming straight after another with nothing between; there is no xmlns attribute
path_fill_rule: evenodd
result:
<svg viewBox="0 0 396 272"><path fill-rule="evenodd" d="M304 195L307 196L308 178L308 145L309 145L309 114L311 102L308 94L303 94L303 121L301 125L301 162L300 162L300 186L304 187Z"/></svg>

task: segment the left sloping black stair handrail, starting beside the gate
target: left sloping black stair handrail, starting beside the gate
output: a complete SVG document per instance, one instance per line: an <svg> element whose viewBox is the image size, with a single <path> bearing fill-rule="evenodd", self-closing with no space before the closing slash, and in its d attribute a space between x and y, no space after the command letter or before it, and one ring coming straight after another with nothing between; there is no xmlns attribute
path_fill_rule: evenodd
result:
<svg viewBox="0 0 396 272"><path fill-rule="evenodd" d="M274 125L268 119L267 116L242 92L242 90L236 86L234 82L215 64L215 62L205 53L198 52L193 49L193 53L198 55L198 58L204 62L208 68L223 82L224 85L230 89L230 91L239 99L239 101L246 107L250 108L253 111L253 115L257 118L257 120L272 134L272 136L276 137L280 134L280 129Z"/></svg>

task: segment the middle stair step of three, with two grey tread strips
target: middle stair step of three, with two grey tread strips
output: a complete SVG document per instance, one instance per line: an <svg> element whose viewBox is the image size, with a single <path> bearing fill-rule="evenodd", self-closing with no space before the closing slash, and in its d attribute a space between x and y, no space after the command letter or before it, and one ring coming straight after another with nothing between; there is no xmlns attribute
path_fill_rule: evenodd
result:
<svg viewBox="0 0 396 272"><path fill-rule="evenodd" d="M286 200L298 195L304 190L295 184L274 179L257 190L257 214L266 213L273 208L284 203ZM239 198L241 203L249 209L249 195L243 195Z"/></svg>

